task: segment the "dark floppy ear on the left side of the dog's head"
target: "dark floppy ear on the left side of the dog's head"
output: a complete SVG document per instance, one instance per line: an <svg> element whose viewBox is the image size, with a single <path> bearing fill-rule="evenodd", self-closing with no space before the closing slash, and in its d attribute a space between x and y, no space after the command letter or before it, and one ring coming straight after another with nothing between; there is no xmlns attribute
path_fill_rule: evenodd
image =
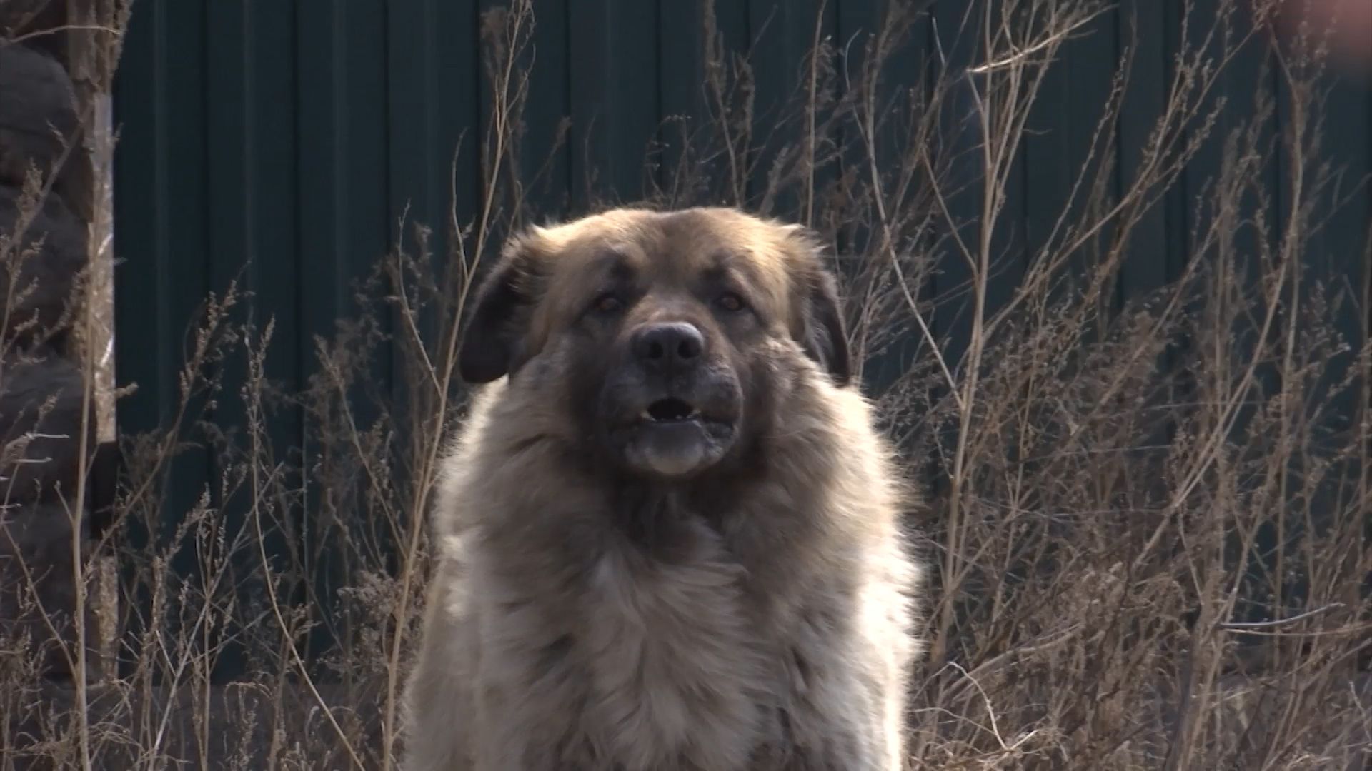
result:
<svg viewBox="0 0 1372 771"><path fill-rule="evenodd" d="M534 305L532 262L527 239L513 239L482 281L457 353L462 380L490 383L513 375L527 361L524 332Z"/></svg>

